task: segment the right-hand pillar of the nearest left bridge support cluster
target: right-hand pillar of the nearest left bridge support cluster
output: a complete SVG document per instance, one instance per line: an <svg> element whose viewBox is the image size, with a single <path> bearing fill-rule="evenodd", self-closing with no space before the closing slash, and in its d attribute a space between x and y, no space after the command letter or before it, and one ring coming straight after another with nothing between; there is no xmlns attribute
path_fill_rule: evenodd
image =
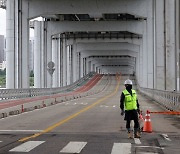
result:
<svg viewBox="0 0 180 154"><path fill-rule="evenodd" d="M29 4L23 0L18 2L21 5L18 10L18 88L29 88Z"/></svg>

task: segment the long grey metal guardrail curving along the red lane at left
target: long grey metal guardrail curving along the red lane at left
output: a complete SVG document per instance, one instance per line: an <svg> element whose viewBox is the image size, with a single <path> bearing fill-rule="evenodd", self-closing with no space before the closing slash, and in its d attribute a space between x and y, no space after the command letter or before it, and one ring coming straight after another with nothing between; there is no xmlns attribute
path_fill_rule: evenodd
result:
<svg viewBox="0 0 180 154"><path fill-rule="evenodd" d="M0 101L7 99L27 98L34 96L52 95L71 91L77 88L80 84L92 77L95 72L91 72L83 78L77 80L71 85L57 88L27 88L27 89L0 89Z"/></svg>

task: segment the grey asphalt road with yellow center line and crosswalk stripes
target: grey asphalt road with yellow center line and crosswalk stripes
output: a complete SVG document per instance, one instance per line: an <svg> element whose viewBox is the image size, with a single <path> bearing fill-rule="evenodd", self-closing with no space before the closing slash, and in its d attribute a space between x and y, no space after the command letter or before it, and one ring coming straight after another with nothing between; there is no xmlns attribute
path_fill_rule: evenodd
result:
<svg viewBox="0 0 180 154"><path fill-rule="evenodd" d="M179 117L174 115L151 115L152 133L127 138L119 109L125 79L119 83L104 76L93 87L105 86L98 94L0 119L0 154L179 154ZM143 113L163 110L141 94L138 98Z"/></svg>

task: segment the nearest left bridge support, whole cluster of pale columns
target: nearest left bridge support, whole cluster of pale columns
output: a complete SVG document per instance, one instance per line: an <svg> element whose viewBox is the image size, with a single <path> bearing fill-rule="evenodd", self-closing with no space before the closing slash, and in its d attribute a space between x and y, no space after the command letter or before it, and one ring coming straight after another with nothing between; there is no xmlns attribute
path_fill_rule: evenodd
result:
<svg viewBox="0 0 180 154"><path fill-rule="evenodd" d="M29 87L28 8L27 1L7 0L6 88Z"/></svg>

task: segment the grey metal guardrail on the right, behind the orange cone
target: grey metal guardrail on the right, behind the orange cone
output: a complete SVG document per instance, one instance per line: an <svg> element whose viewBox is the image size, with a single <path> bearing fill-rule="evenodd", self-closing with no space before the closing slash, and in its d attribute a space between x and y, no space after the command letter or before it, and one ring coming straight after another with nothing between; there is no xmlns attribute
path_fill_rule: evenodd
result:
<svg viewBox="0 0 180 154"><path fill-rule="evenodd" d="M137 89L171 111L180 111L180 93L137 86Z"/></svg>

